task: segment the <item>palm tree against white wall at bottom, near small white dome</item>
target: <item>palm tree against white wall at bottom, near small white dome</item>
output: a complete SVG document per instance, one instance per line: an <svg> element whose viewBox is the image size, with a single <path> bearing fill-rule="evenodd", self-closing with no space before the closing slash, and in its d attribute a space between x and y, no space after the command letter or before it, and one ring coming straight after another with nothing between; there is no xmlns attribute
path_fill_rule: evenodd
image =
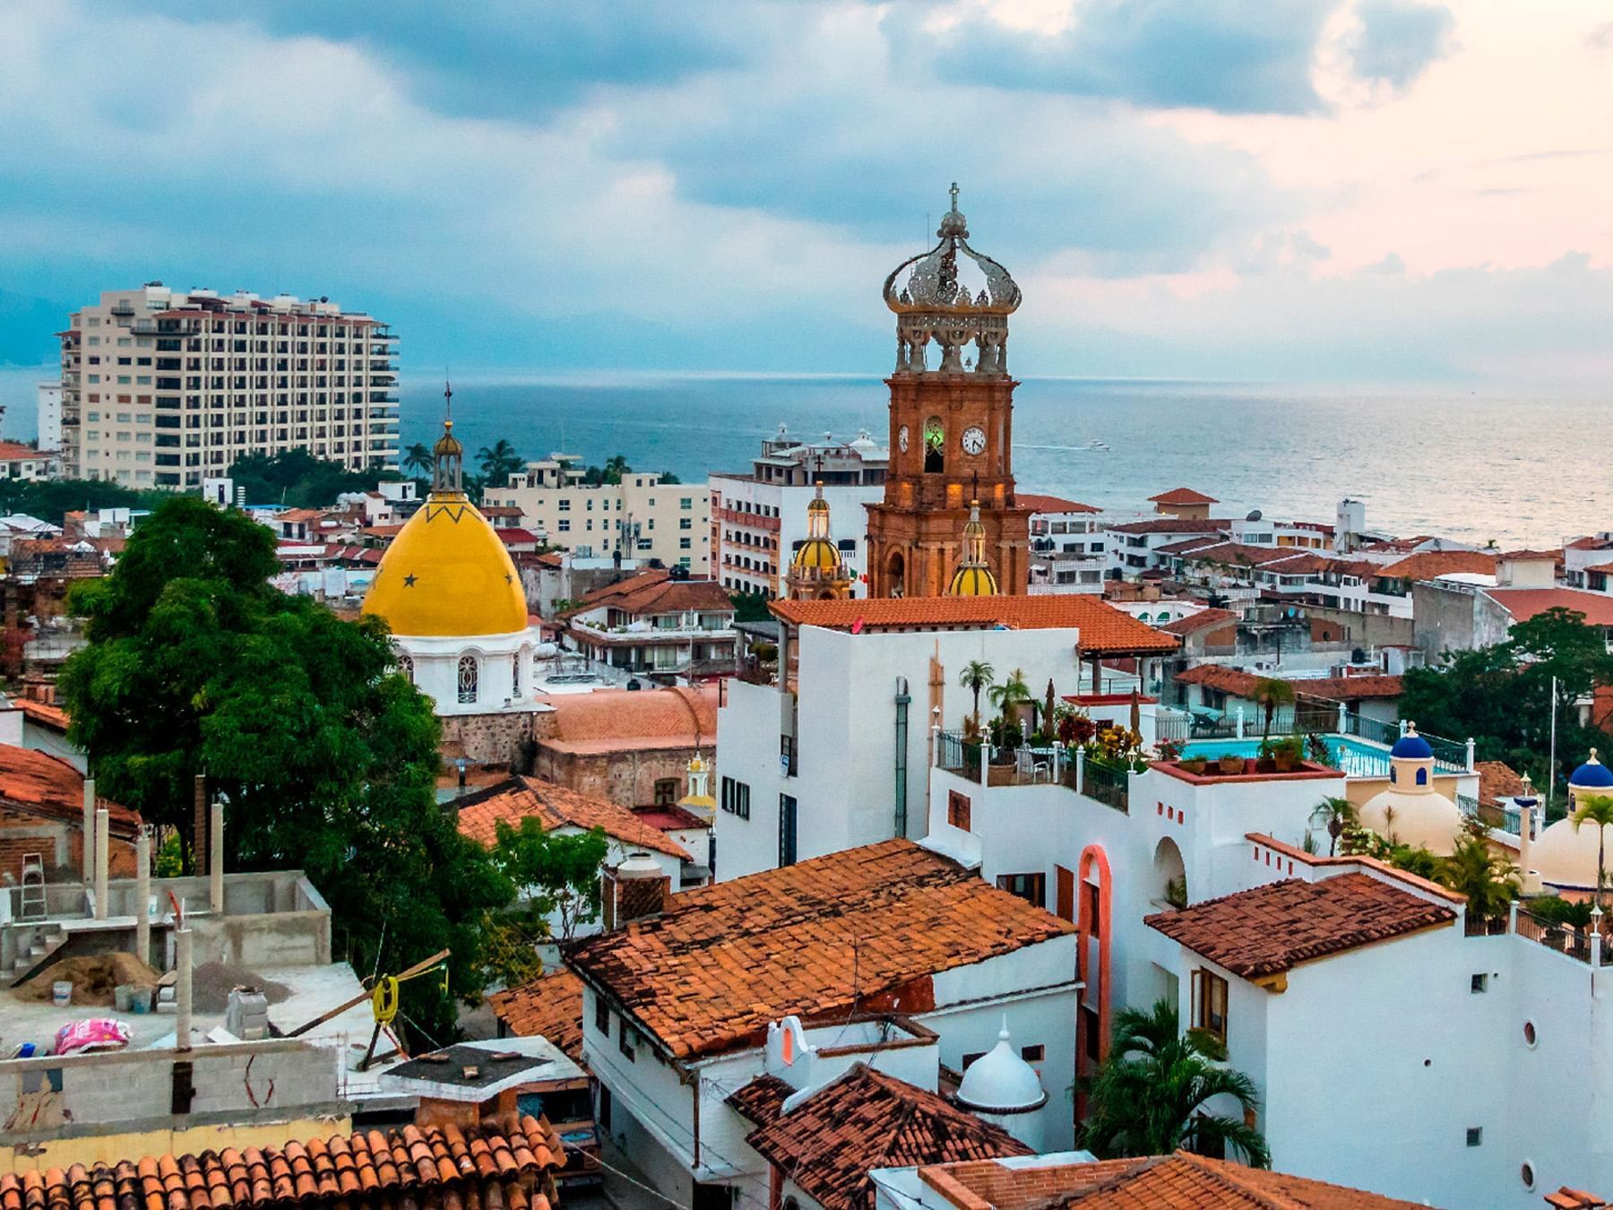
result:
<svg viewBox="0 0 1613 1210"><path fill-rule="evenodd" d="M1244 1116L1207 1112L1216 1097L1232 1097L1244 1113L1260 1108L1255 1083L1221 1066L1224 1047L1202 1031L1181 1033L1176 1005L1160 1000L1150 1012L1123 1008L1115 1016L1108 1058L1082 1081L1087 1120L1081 1145L1102 1158L1240 1152L1255 1168L1271 1166L1265 1136Z"/></svg>

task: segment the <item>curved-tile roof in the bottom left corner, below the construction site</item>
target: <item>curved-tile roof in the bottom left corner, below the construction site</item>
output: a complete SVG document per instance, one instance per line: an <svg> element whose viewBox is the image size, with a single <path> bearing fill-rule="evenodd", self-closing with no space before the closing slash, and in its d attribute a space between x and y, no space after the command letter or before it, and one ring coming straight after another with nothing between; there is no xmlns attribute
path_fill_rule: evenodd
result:
<svg viewBox="0 0 1613 1210"><path fill-rule="evenodd" d="M224 1207L503 1205L548 1210L545 1173L565 1163L548 1123L506 1134L484 1123L358 1131L284 1147L71 1165L0 1176L0 1210L223 1210Z"/></svg>

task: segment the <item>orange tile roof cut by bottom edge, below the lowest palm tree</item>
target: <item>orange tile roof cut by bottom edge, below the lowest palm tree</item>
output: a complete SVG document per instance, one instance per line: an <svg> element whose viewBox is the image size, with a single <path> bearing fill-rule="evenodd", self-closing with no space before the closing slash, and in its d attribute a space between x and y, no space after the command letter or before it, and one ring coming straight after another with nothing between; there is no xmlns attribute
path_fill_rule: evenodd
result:
<svg viewBox="0 0 1613 1210"><path fill-rule="evenodd" d="M974 1160L919 1168L918 1176L966 1210L1410 1210L1415 1205L1189 1152L1042 1166Z"/></svg>

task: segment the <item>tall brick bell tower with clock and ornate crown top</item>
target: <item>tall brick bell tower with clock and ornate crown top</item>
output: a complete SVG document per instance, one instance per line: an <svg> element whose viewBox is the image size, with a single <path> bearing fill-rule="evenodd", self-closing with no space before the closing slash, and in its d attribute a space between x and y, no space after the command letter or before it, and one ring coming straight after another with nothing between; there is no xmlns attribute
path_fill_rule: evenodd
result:
<svg viewBox="0 0 1613 1210"><path fill-rule="evenodd" d="M886 277L897 316L886 499L868 505L868 595L939 597L963 553L969 505L979 500L986 558L1002 592L1029 581L1031 513L1013 492L1013 389L1008 316L1019 287L1008 269L968 245L952 210L940 242Z"/></svg>

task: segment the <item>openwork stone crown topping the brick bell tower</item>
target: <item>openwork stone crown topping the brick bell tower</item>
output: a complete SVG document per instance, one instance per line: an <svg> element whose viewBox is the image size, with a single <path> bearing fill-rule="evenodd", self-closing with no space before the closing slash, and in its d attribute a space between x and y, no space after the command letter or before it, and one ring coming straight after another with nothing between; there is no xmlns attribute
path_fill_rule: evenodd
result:
<svg viewBox="0 0 1613 1210"><path fill-rule="evenodd" d="M973 342L974 373L1007 374L1008 316L1023 295L1008 269L969 247L957 181L936 236L940 242L934 248L910 257L886 277L886 307L897 313L897 373L926 373L924 348L936 340L937 373L965 373L963 347Z"/></svg>

